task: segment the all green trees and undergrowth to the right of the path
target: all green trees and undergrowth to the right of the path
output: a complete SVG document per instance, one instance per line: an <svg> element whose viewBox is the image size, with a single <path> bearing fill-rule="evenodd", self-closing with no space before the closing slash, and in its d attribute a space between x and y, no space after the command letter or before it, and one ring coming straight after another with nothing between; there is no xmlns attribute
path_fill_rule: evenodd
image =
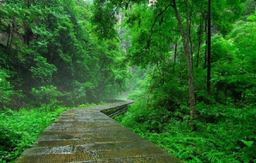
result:
<svg viewBox="0 0 256 163"><path fill-rule="evenodd" d="M185 162L256 161L253 0L211 2L211 71L208 0L94 2L97 26L107 23L110 11L123 14L120 27L133 74L128 85L136 103L116 120ZM109 20L100 36L115 34L117 20Z"/></svg>

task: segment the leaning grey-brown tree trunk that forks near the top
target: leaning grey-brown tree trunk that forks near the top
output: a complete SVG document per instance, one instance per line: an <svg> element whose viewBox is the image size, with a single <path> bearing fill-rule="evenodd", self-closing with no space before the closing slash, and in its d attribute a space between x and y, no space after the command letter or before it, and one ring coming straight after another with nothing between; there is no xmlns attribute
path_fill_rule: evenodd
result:
<svg viewBox="0 0 256 163"><path fill-rule="evenodd" d="M173 9L175 11L175 15L178 20L178 25L180 27L180 34L182 36L183 48L185 50L185 55L187 56L187 67L188 67L188 75L189 75L189 100L190 100L190 115L192 118L196 117L195 113L195 93L194 93L194 84L193 84L193 70L191 64L191 54L189 49L189 2L186 0L187 6L187 36L185 34L182 21L180 19L180 14L178 12L176 6L176 0L173 0Z"/></svg>

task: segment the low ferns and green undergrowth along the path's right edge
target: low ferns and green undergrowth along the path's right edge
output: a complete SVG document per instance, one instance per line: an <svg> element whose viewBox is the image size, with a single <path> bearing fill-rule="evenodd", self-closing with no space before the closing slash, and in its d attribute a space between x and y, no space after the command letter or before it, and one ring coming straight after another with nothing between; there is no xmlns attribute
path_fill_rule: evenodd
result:
<svg viewBox="0 0 256 163"><path fill-rule="evenodd" d="M118 122L187 163L255 163L256 108L197 105L197 120L189 108L175 112L136 103Z"/></svg>

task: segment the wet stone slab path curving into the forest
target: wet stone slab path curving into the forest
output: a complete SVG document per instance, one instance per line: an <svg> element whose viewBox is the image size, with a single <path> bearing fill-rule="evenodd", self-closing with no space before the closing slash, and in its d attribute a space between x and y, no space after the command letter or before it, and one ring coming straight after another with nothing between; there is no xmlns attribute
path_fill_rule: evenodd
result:
<svg viewBox="0 0 256 163"><path fill-rule="evenodd" d="M162 148L118 124L101 110L128 105L75 108L63 112L15 163L180 163Z"/></svg>

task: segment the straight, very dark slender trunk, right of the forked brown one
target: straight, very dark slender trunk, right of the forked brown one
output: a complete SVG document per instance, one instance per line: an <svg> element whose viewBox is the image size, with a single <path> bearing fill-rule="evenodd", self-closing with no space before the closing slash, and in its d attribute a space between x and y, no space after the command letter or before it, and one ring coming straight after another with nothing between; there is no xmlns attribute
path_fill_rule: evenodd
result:
<svg viewBox="0 0 256 163"><path fill-rule="evenodd" d="M207 94L211 94L211 0L208 0Z"/></svg>

